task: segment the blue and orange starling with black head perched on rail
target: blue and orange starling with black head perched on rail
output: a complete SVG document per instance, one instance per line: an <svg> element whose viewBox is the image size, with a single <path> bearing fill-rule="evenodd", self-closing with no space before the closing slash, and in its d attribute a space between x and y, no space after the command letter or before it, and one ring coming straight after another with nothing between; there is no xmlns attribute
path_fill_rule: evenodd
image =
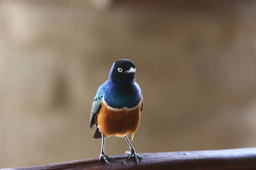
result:
<svg viewBox="0 0 256 170"><path fill-rule="evenodd" d="M143 110L143 94L135 78L136 66L132 60L116 60L108 80L100 85L93 99L90 128L95 125L93 138L102 140L99 161L108 165L113 158L106 155L104 147L105 139L110 136L125 138L130 148L125 152L129 155L127 161L134 159L138 164L142 159L127 137L131 134L131 140L134 138Z"/></svg>

